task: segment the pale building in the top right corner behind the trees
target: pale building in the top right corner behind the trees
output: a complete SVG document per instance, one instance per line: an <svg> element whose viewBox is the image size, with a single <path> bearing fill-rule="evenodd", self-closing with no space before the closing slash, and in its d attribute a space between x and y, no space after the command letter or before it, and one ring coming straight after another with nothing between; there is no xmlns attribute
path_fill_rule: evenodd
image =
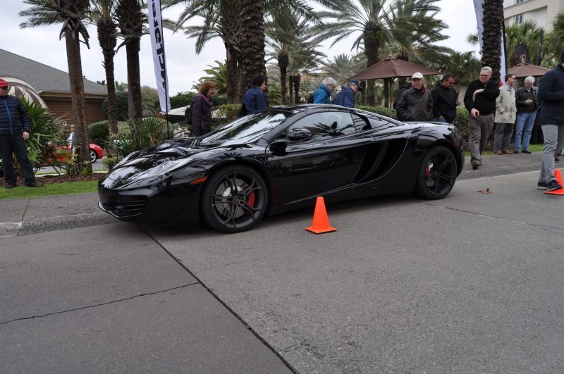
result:
<svg viewBox="0 0 564 374"><path fill-rule="evenodd" d="M515 25L532 20L545 32L552 31L556 15L564 11L564 0L504 0L505 25Z"/></svg>

